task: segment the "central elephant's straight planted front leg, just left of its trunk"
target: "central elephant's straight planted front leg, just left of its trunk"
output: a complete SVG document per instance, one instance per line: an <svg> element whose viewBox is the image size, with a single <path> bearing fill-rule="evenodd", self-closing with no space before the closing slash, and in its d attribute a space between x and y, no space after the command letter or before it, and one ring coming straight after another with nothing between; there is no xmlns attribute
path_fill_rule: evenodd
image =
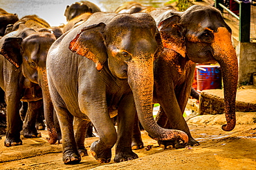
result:
<svg viewBox="0 0 256 170"><path fill-rule="evenodd" d="M115 162L138 158L138 155L131 150L131 134L133 133L135 114L134 98L129 95L122 100L118 107L118 140Z"/></svg>

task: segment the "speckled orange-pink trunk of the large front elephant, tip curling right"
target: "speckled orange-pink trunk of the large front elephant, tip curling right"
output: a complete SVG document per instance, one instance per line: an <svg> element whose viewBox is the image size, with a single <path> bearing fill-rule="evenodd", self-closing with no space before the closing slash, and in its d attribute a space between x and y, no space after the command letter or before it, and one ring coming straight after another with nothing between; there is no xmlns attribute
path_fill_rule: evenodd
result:
<svg viewBox="0 0 256 170"><path fill-rule="evenodd" d="M183 131L163 129L153 118L153 59L149 62L131 61L128 66L128 82L134 94L138 118L143 128L154 140L183 140L188 135Z"/></svg>

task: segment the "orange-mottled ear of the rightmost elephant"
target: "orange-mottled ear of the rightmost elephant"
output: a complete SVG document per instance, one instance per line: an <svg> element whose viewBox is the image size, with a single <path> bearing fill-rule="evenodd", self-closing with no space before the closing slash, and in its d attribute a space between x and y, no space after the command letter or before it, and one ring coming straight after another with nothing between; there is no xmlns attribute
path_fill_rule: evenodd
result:
<svg viewBox="0 0 256 170"><path fill-rule="evenodd" d="M158 30L161 34L163 46L185 57L185 38L179 25L180 19L181 17L178 15L172 15L158 23Z"/></svg>

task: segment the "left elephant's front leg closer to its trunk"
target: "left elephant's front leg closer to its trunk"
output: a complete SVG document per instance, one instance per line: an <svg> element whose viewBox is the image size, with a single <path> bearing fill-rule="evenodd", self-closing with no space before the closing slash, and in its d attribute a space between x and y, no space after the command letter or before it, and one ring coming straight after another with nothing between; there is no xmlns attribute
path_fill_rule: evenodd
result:
<svg viewBox="0 0 256 170"><path fill-rule="evenodd" d="M37 100L33 102L28 102L28 111L23 125L23 136L24 138L40 138L41 133L39 133L35 127L37 121L37 114L40 113L40 109L43 103L42 100Z"/></svg>

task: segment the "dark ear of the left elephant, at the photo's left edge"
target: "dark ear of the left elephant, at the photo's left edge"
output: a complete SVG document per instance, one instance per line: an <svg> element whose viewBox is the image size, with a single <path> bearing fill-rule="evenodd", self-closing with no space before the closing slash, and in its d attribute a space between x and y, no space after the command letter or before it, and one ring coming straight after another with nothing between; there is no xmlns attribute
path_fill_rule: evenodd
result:
<svg viewBox="0 0 256 170"><path fill-rule="evenodd" d="M12 65L18 69L22 63L21 38L9 37L4 40L0 54L2 54Z"/></svg>

